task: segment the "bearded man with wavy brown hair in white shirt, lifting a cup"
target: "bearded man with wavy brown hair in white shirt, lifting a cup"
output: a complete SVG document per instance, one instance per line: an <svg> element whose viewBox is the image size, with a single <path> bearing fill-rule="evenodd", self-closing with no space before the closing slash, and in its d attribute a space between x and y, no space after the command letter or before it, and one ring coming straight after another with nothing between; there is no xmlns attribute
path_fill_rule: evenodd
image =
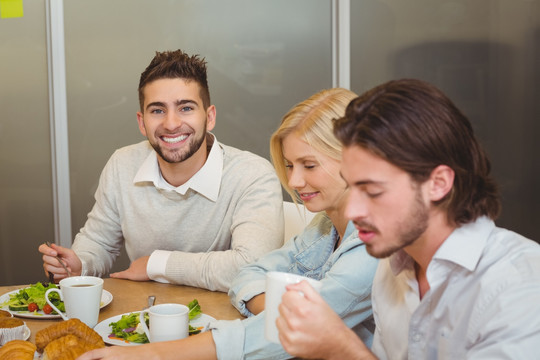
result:
<svg viewBox="0 0 540 360"><path fill-rule="evenodd" d="M423 81L390 81L353 100L334 131L346 216L382 258L373 346L304 283L280 306L284 348L323 359L537 359L540 246L495 225L490 162L461 111Z"/></svg>

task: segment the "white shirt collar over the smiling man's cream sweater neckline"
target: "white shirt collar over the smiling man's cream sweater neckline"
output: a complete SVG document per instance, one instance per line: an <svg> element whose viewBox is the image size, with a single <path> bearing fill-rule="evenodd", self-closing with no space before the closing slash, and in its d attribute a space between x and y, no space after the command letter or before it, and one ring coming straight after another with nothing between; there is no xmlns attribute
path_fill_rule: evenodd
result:
<svg viewBox="0 0 540 360"><path fill-rule="evenodd" d="M208 141L212 142L212 147L210 148L206 162L184 184L174 187L167 183L161 175L157 160L159 155L155 151L151 151L148 154L133 178L133 183L151 182L158 189L176 191L181 195L192 189L211 201L217 201L223 172L223 150L215 135L208 133Z"/></svg>

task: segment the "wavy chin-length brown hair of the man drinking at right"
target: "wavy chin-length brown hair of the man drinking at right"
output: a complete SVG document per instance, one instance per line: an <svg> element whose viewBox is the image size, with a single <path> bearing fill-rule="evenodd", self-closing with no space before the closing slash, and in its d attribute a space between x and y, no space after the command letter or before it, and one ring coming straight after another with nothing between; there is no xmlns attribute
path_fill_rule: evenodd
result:
<svg viewBox="0 0 540 360"><path fill-rule="evenodd" d="M360 146L423 183L432 170L455 172L452 190L436 205L451 224L462 225L501 210L491 165L467 117L431 84L402 79L379 85L348 105L334 122L344 146Z"/></svg>

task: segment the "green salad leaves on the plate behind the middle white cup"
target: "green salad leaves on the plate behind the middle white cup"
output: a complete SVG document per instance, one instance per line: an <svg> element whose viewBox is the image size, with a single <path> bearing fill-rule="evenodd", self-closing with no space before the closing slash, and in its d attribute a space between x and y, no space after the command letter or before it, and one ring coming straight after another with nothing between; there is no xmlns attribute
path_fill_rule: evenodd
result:
<svg viewBox="0 0 540 360"><path fill-rule="evenodd" d="M199 316L201 311L201 306L199 305L199 302L197 299L194 299L192 302L188 304L189 308L189 321L195 319L197 316ZM148 337L144 333L143 329L139 325L139 312L130 313L127 315L122 315L120 320L116 322L110 323L111 327L111 334L109 335L109 338L111 339L122 339L125 341L138 343L138 344L146 344L148 341ZM144 319L146 321L146 326L149 324L148 319L148 313L144 314ZM198 334L201 332L200 328L195 328L191 325L189 325L189 335Z"/></svg>

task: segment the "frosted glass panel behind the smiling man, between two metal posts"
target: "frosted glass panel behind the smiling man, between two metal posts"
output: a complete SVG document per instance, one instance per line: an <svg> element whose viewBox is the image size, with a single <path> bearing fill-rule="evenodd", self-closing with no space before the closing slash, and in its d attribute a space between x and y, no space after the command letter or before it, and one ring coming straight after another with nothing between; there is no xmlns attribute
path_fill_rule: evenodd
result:
<svg viewBox="0 0 540 360"><path fill-rule="evenodd" d="M205 57L217 138L266 158L282 115L332 86L330 0L70 0L64 14L74 233L109 156L143 140L137 85L156 50Z"/></svg>

